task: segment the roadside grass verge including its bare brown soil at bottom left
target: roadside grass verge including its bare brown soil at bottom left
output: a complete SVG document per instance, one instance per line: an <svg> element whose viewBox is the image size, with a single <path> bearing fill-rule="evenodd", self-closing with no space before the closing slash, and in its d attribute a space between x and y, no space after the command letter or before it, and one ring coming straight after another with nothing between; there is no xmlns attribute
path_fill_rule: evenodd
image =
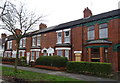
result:
<svg viewBox="0 0 120 83"><path fill-rule="evenodd" d="M77 79L72 79L63 76L49 75L43 73L36 73L25 70L18 70L18 73L14 73L13 68L0 66L2 69L3 80L7 78L10 83L56 83L56 82L78 82L78 83L94 83L86 82ZM1 71L1 70L0 70Z"/></svg>

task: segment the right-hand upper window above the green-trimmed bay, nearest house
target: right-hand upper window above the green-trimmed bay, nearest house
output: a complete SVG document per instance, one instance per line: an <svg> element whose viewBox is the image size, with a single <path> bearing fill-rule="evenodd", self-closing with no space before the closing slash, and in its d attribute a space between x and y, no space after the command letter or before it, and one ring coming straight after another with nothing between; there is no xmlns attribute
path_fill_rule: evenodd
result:
<svg viewBox="0 0 120 83"><path fill-rule="evenodd" d="M108 25L107 24L99 25L99 38L108 38Z"/></svg>

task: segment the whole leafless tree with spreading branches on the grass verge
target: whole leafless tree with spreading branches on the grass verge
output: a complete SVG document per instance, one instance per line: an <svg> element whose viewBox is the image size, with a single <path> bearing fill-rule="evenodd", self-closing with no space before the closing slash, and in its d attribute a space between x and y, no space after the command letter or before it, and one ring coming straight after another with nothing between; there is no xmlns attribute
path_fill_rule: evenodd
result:
<svg viewBox="0 0 120 83"><path fill-rule="evenodd" d="M14 39L16 40L17 50L15 72L17 72L20 40L29 30L32 29L33 25L35 25L43 18L43 16L37 17L35 13L27 13L24 5L21 4L19 8L17 8L15 4L8 1L6 1L4 6L0 7L0 9L2 10L0 20L4 24L2 29L11 32ZM19 29L21 33L17 34L16 29Z"/></svg>

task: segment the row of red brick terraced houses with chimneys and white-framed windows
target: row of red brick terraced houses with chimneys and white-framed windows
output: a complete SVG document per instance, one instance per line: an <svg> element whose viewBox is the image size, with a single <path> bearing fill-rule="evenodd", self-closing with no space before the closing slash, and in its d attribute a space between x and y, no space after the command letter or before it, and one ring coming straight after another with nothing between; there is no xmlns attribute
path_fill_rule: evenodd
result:
<svg viewBox="0 0 120 83"><path fill-rule="evenodd" d="M19 57L35 61L39 56L65 56L70 61L112 63L120 71L120 9L30 32L20 42ZM19 32L19 30L18 30ZM15 57L16 42L7 36L4 57Z"/></svg>

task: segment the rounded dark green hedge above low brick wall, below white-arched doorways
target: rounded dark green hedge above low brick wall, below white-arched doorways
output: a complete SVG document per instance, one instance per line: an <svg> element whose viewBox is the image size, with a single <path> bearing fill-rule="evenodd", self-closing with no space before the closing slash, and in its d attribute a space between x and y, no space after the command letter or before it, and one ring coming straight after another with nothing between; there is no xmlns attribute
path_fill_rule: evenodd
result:
<svg viewBox="0 0 120 83"><path fill-rule="evenodd" d="M60 56L40 56L36 60L36 65L45 65L45 66L53 66L53 67L66 67L67 64L66 57Z"/></svg>

